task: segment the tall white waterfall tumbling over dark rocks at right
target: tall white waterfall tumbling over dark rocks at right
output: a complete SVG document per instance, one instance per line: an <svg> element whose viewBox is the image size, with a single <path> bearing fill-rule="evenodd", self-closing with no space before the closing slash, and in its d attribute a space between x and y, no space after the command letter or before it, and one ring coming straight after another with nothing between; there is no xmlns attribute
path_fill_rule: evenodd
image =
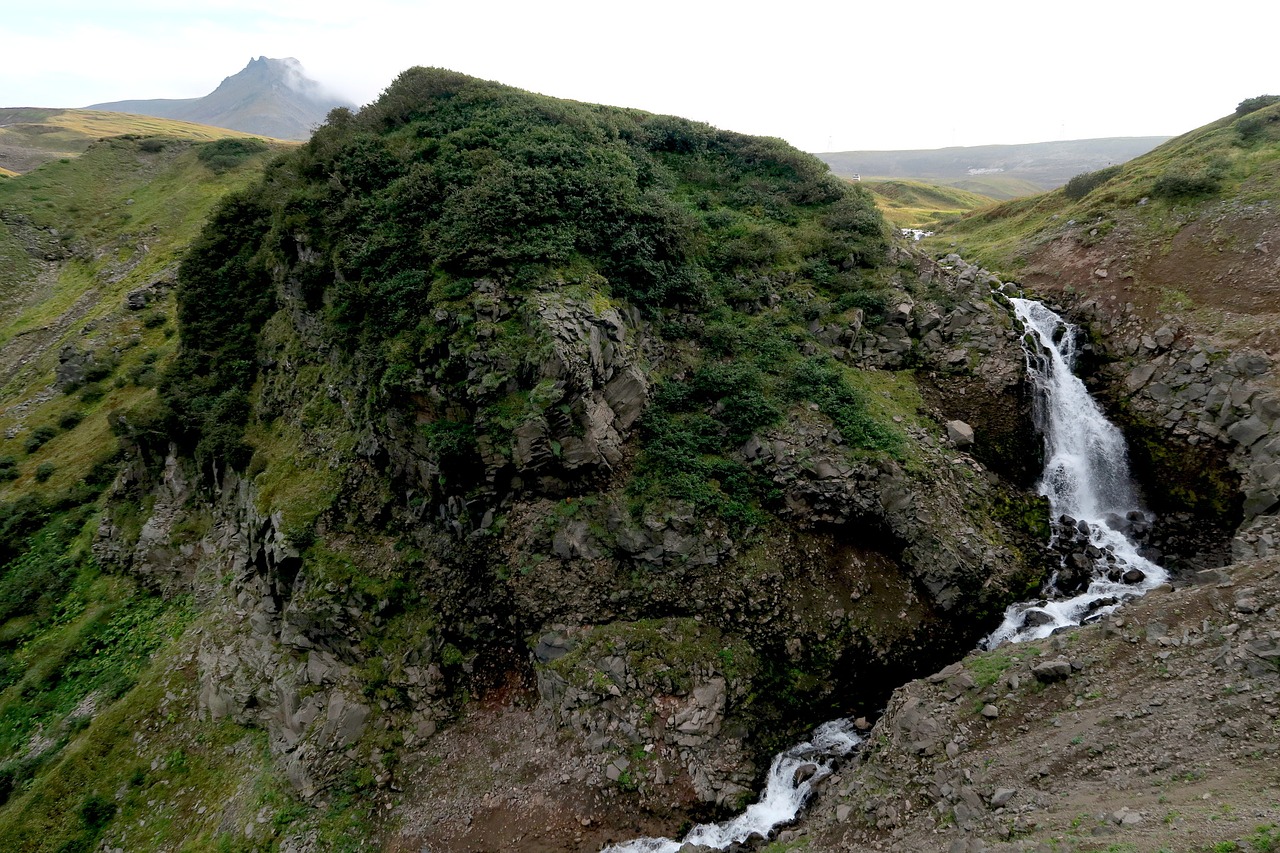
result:
<svg viewBox="0 0 1280 853"><path fill-rule="evenodd" d="M1032 300L1010 300L1014 313L1027 327L1032 342L1024 338L1027 373L1036 384L1036 421L1044 434L1044 473L1039 493L1048 498L1055 535L1057 519L1064 515L1083 520L1089 528L1089 540L1105 553L1114 555L1114 565L1098 560L1088 588L1076 596L1053 597L1012 605L1005 620L986 640L984 648L1004 642L1020 642L1048 637L1059 628L1079 625L1087 616L1108 613L1126 598L1134 598L1167 580L1167 573L1138 553L1137 546L1123 532L1132 512L1142 512L1133 482L1124 435L1098 409L1075 368L1075 329L1057 314ZM1146 517L1146 514L1143 514ZM1107 579L1107 570L1121 573L1138 569L1146 576L1137 584ZM1050 584L1052 587L1052 581ZM1116 603L1098 605L1106 599ZM1028 613L1039 625L1028 625Z"/></svg>

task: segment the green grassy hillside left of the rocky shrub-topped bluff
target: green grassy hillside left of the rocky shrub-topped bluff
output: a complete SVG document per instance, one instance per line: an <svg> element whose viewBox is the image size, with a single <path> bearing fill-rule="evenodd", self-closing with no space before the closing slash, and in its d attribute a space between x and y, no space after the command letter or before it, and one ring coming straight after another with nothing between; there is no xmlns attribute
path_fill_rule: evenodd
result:
<svg viewBox="0 0 1280 853"><path fill-rule="evenodd" d="M179 713L197 611L105 574L91 544L119 470L111 415L155 397L174 350L173 297L154 286L271 151L173 136L81 145L79 132L138 126L72 126L79 156L0 182L0 836L87 850L118 816L146 824L137 844L207 849L216 826L180 795L160 811L157 798L200 786L257 809L275 797L265 745ZM129 310L140 289L147 305ZM63 380L68 359L82 370Z"/></svg>

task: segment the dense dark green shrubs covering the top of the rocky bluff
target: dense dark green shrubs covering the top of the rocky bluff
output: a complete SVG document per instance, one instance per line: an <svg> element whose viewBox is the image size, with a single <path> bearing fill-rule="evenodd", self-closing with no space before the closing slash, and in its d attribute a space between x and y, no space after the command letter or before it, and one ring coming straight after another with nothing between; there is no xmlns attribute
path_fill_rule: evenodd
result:
<svg viewBox="0 0 1280 853"><path fill-rule="evenodd" d="M773 353L767 369L695 365L645 433L657 467L690 479L685 493L718 489L741 502L731 512L746 512L759 484L703 457L794 402L776 387L794 346L736 306L762 288L803 286L806 298L864 306L874 321L883 297L865 269L886 250L870 196L780 140L416 68L358 114L330 113L250 195L223 204L179 272L182 348L161 391L197 457L244 464L256 334L274 306L268 270L284 269L360 360L371 409L402 405L422 382L444 396L438 410L449 414L431 418L426 439L460 488L483 470L485 430L518 423L506 411L511 383L534 377L541 357L516 316L486 329L507 373L470 375L480 282L517 297L576 287L637 305L664 334L704 334L713 357ZM686 329L678 318L691 310L721 319ZM780 321L800 318L788 310ZM681 402L681 388L717 410ZM842 432L858 432L850 401L823 400Z"/></svg>

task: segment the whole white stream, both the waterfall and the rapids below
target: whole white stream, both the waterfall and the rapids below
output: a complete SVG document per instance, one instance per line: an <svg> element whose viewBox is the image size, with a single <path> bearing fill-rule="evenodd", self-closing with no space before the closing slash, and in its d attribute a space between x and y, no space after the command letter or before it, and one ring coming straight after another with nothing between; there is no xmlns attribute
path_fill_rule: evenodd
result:
<svg viewBox="0 0 1280 853"><path fill-rule="evenodd" d="M1033 415L1044 435L1044 471L1037 491L1048 498L1052 544L1078 547L1074 566L1087 571L1083 592L1064 594L1055 573L1041 598L1010 605L1004 620L980 643L984 649L1048 637L1056 630L1100 619L1125 601L1165 583L1169 574L1138 553L1129 537L1134 525L1149 523L1129 476L1124 435L1108 421L1075 375L1076 329L1034 300L1011 298L1021 321L1027 375L1034 386ZM1059 549L1061 551L1061 548ZM1066 560L1061 571L1066 570ZM818 726L810 740L773 758L760 799L741 815L719 824L695 826L680 841L643 838L604 848L602 853L677 853L685 844L712 849L768 838L799 815L813 786L861 743L846 719Z"/></svg>

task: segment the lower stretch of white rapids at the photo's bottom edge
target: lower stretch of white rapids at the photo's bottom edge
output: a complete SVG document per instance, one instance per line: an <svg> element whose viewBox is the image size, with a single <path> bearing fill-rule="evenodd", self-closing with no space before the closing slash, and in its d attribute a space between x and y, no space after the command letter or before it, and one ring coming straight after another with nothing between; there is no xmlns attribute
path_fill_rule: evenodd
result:
<svg viewBox="0 0 1280 853"><path fill-rule="evenodd" d="M813 740L791 747L773 757L769 783L759 802L748 806L737 817L723 824L695 826L680 841L669 838L641 838L607 847L603 853L676 853L685 844L701 844L723 850L730 844L745 841L756 833L768 836L774 826L795 820L813 793L813 786L831 775L836 758L847 756L861 740L849 720L824 722L814 730ZM813 776L796 785L796 770L805 765L814 765L817 770Z"/></svg>

